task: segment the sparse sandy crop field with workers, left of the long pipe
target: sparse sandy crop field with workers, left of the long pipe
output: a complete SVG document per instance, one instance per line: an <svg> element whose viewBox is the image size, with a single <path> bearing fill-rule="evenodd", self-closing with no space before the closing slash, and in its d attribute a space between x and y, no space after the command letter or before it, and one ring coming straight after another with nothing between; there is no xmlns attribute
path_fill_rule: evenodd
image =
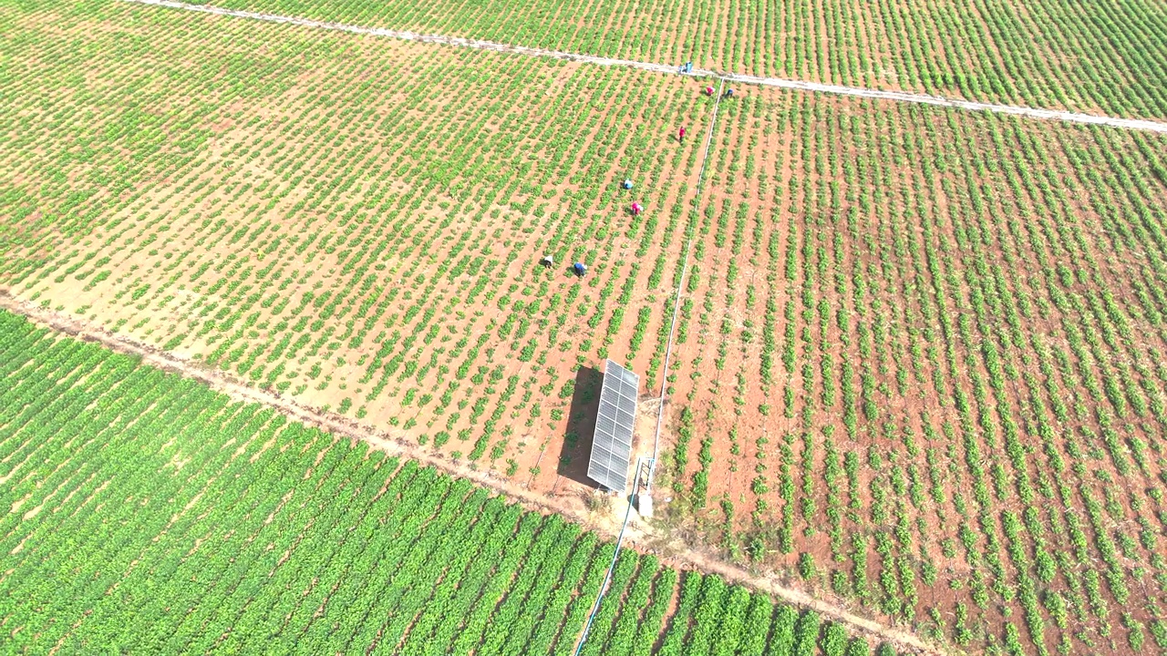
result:
<svg viewBox="0 0 1167 656"><path fill-rule="evenodd" d="M562 435L589 365L659 385L701 146L662 126L707 120L691 82L84 7L14 47L23 298L543 488L586 466Z"/></svg>

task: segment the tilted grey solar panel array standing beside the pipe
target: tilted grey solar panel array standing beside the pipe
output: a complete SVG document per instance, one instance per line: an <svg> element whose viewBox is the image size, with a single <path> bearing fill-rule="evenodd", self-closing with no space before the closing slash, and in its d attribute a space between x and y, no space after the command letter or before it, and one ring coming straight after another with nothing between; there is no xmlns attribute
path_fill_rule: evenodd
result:
<svg viewBox="0 0 1167 656"><path fill-rule="evenodd" d="M610 490L624 491L628 487L628 463L633 455L633 424L636 420L636 395L640 386L641 377L636 374L610 360L605 365L587 475Z"/></svg>

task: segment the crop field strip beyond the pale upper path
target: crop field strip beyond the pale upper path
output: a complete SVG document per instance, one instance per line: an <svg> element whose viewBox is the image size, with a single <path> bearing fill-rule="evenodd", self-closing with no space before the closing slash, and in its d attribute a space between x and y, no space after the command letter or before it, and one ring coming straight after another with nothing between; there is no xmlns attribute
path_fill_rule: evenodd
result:
<svg viewBox="0 0 1167 656"><path fill-rule="evenodd" d="M588 55L1040 107L1167 118L1154 0L707 2L196 0Z"/></svg>

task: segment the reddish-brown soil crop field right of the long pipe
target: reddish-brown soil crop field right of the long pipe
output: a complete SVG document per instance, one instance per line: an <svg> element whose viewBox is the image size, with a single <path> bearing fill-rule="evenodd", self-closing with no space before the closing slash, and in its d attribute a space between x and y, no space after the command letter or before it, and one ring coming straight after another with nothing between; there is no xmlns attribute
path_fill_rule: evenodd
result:
<svg viewBox="0 0 1167 656"><path fill-rule="evenodd" d="M1167 139L777 91L714 139L678 525L957 647L1167 647Z"/></svg>

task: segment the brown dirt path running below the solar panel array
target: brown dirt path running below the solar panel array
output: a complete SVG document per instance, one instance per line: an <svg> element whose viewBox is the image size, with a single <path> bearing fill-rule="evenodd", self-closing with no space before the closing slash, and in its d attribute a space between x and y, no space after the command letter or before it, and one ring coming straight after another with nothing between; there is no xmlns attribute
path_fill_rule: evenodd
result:
<svg viewBox="0 0 1167 656"><path fill-rule="evenodd" d="M272 407L305 425L316 426L334 434L343 435L354 440L364 440L371 446L380 448L390 455L408 458L418 461L420 465L433 467L450 476L471 481L495 493L505 495L529 510L562 515L573 522L595 530L607 539L614 539L620 528L619 525L598 525L592 517L586 515L586 512L581 512L578 507L567 503L565 500L546 497L510 481L491 476L487 472L474 469L466 463L450 461L439 453L427 451L414 442L399 439L389 433L377 432L361 426L358 423L338 414L321 412L319 409L298 404L275 393L251 388L238 382L232 376L223 371L211 369L203 363L184 360L175 356L174 354L160 351L154 347L132 340L126 335L113 334L104 328L91 326L88 322L72 316L55 313L53 310L41 308L35 303L20 300L13 296L7 289L0 289L0 308L23 315L37 324L71 335L79 340L99 343L116 353L138 356L142 360L142 362L152 367L200 381L215 391L224 393L235 400L257 403ZM642 526L642 529L647 530L648 528ZM641 552L652 550L652 545L645 543L630 543L628 546ZM858 635L867 635L876 638L878 641L890 642L901 651L910 654L943 654L937 648L924 643L920 637L909 631L889 628L876 621L861 617L848 612L841 606L837 606L822 599L816 599L803 589L784 586L773 577L756 575L741 567L722 563L717 558L691 549L687 545L673 542L668 546L668 552L669 553L665 556L673 566L715 573L729 581L747 585L785 602L804 608L811 608L826 620L847 624L852 631Z"/></svg>

